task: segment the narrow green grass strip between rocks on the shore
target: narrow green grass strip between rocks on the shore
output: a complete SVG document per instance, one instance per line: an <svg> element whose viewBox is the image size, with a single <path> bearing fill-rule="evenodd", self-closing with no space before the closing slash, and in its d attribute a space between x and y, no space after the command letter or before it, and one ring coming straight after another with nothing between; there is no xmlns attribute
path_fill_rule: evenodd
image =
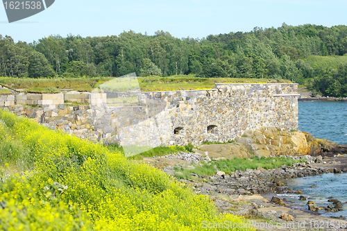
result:
<svg viewBox="0 0 347 231"><path fill-rule="evenodd" d="M246 169L257 169L257 167L262 167L263 169L277 169L283 164L291 166L297 162L305 162L305 159L294 160L291 157L251 157L250 160L247 158L234 158L232 160L213 160L208 164L203 164L202 166L196 165L195 169L179 169L176 168L175 176L180 179L191 179L192 174L204 176L212 176L216 174L214 165L217 165L219 171L224 171L226 174L230 174L236 170L246 171Z"/></svg>

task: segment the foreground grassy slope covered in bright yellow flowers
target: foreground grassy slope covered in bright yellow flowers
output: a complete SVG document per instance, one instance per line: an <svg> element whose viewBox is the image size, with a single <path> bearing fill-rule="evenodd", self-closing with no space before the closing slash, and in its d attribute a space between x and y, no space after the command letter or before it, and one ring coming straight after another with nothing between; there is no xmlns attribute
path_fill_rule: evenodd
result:
<svg viewBox="0 0 347 231"><path fill-rule="evenodd" d="M1 230L203 230L203 221L243 222L99 144L2 110L0 121Z"/></svg>

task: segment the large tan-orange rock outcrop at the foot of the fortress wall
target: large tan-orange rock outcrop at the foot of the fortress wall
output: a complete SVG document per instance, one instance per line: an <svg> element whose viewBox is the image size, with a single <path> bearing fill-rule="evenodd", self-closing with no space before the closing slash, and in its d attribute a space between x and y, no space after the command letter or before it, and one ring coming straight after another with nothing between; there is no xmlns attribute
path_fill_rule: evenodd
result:
<svg viewBox="0 0 347 231"><path fill-rule="evenodd" d="M301 131L282 131L274 127L246 130L241 137L236 137L232 144L210 144L199 146L196 153L213 159L233 157L268 157L270 155L331 155L340 151L336 143L327 139L316 139L310 133Z"/></svg>

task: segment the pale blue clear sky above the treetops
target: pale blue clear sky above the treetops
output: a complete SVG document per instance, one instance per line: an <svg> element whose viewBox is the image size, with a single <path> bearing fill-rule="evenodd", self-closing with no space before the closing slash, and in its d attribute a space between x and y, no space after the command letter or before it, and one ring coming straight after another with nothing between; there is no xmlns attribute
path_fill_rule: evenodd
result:
<svg viewBox="0 0 347 231"><path fill-rule="evenodd" d="M0 34L33 42L49 35L119 35L123 31L206 37L230 31L347 24L346 0L56 0L50 8L8 24L0 6Z"/></svg>

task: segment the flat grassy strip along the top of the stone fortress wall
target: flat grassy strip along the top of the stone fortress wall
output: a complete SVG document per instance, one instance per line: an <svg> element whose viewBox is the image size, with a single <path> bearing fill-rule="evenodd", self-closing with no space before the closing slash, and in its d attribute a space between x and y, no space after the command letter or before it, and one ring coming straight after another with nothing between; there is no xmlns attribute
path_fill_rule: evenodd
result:
<svg viewBox="0 0 347 231"><path fill-rule="evenodd" d="M29 93L56 93L62 89L91 92L113 78L0 78L0 84ZM198 78L189 76L139 77L143 92L179 89L212 89L214 83L289 83L288 80L262 78Z"/></svg>

